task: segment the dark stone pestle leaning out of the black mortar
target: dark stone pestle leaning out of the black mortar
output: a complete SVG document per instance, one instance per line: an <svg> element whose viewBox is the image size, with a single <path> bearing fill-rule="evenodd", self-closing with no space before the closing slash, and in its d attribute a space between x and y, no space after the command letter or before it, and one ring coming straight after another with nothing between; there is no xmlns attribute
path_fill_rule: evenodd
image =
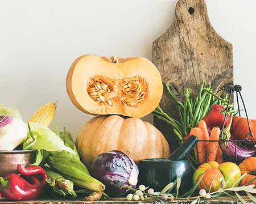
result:
<svg viewBox="0 0 256 204"><path fill-rule="evenodd" d="M197 142L198 138L195 135L191 135L187 141L172 152L168 159L172 161L186 160L188 154L193 150L193 147L196 146Z"/></svg>

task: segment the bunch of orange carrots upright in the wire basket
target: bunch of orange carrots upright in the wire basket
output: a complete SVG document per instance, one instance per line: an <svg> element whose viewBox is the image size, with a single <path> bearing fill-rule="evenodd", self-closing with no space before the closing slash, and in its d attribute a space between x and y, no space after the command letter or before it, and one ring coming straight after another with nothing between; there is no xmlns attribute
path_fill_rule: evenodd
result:
<svg viewBox="0 0 256 204"><path fill-rule="evenodd" d="M216 161L219 164L224 162L222 151L219 146L221 130L214 127L209 134L207 123L204 120L199 121L198 128L192 128L190 135L195 135L200 142L194 147L194 152L199 164L209 161Z"/></svg>

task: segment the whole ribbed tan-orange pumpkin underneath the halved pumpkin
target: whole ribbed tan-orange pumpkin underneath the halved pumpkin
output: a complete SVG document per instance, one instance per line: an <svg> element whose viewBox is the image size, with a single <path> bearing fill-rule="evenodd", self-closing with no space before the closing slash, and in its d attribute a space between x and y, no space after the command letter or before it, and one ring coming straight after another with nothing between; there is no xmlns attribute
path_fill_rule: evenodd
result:
<svg viewBox="0 0 256 204"><path fill-rule="evenodd" d="M137 117L93 117L79 131L76 146L81 161L88 168L98 155L112 150L122 151L137 164L142 159L170 156L163 134Z"/></svg>

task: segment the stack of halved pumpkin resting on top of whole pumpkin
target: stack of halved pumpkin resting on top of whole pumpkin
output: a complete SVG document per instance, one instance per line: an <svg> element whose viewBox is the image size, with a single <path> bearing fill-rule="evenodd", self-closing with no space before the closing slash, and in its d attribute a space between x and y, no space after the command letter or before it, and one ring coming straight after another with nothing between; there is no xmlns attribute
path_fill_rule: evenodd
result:
<svg viewBox="0 0 256 204"><path fill-rule="evenodd" d="M148 59L84 55L71 65L66 84L77 108L99 115L77 135L77 150L86 167L111 150L124 152L135 163L170 155L163 134L139 119L154 111L163 94L160 74Z"/></svg>

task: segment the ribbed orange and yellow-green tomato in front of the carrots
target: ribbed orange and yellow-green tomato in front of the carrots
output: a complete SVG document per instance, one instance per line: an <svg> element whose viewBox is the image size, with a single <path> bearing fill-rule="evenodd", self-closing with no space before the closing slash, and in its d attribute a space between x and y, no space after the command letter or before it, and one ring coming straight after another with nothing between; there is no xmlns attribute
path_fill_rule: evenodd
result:
<svg viewBox="0 0 256 204"><path fill-rule="evenodd" d="M192 177L193 185L196 185L197 181L199 181L203 175L204 177L197 187L198 190L205 189L208 192L210 189L210 184L212 183L214 176L216 176L213 181L212 188L210 189L211 192L214 192L221 188L222 181L225 182L228 179L230 180L225 188L232 187L234 183L241 177L241 171L238 165L232 162L218 164L217 162L212 161L204 163L201 164L194 172ZM235 186L238 186L238 184Z"/></svg>

